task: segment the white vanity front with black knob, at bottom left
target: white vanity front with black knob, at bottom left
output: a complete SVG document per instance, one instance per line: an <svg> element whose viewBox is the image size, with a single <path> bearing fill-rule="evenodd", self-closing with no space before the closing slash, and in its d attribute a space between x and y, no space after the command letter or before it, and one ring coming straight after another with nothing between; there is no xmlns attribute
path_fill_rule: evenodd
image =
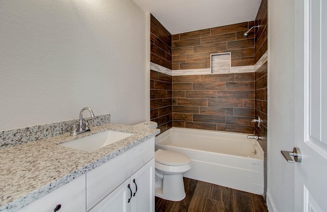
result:
<svg viewBox="0 0 327 212"><path fill-rule="evenodd" d="M59 212L86 211L85 174L32 202L18 212L49 212L60 204Z"/></svg>

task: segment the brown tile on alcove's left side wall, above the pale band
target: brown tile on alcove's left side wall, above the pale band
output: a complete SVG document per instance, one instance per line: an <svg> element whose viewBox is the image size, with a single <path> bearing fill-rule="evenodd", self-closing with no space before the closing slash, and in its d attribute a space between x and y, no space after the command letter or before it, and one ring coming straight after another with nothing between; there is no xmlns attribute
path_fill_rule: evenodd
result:
<svg viewBox="0 0 327 212"><path fill-rule="evenodd" d="M172 69L172 34L151 14L150 61Z"/></svg>

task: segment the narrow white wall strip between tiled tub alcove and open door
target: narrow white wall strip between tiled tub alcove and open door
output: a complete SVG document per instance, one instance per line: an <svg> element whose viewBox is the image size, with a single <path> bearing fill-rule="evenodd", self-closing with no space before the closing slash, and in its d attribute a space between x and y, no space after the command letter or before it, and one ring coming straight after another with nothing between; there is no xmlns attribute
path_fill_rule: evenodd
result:
<svg viewBox="0 0 327 212"><path fill-rule="evenodd" d="M294 211L294 164L281 150L294 147L294 0L269 1L268 203L270 211ZM268 204L268 205L269 205ZM274 210L272 207L275 207Z"/></svg>

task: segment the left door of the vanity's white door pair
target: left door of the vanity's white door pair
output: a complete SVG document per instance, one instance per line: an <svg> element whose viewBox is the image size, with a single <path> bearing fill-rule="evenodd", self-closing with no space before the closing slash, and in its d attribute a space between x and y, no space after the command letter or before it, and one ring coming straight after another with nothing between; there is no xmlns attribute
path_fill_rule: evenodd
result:
<svg viewBox="0 0 327 212"><path fill-rule="evenodd" d="M106 196L101 202L99 202L95 207L93 207L89 212L130 212L131 202L131 189L130 179L123 182L118 188Z"/></svg>

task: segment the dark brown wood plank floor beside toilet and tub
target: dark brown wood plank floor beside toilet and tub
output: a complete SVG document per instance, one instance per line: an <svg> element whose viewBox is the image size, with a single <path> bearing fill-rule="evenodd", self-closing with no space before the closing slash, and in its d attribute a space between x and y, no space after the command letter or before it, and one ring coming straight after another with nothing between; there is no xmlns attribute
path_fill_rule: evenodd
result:
<svg viewBox="0 0 327 212"><path fill-rule="evenodd" d="M156 212L268 212L263 196L184 178L186 197L174 202L155 197Z"/></svg>

